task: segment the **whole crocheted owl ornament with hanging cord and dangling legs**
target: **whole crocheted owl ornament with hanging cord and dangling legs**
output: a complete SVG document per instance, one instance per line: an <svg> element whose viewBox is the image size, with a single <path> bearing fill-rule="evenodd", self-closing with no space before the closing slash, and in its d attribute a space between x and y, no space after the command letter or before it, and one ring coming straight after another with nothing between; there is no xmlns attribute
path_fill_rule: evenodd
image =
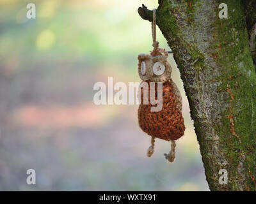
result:
<svg viewBox="0 0 256 204"><path fill-rule="evenodd" d="M140 54L138 56L138 71L142 83L147 83L147 86L140 86L139 98L140 106L138 109L138 120L140 128L152 136L151 146L148 148L147 156L150 157L154 153L155 139L159 138L171 142L171 150L169 154L164 154L168 161L173 162L175 159L175 140L184 135L185 126L184 119L182 117L182 101L179 89L172 81L172 67L167 61L168 52L159 48L159 43L156 41L156 10L153 10L152 21L152 36L154 50L148 54ZM163 83L163 91L159 92L157 85L159 82ZM150 84L154 84L154 94L152 94L152 87ZM147 89L145 89L147 87ZM148 90L148 89L151 89ZM149 98L157 97L157 94L163 95L161 100L163 106L159 111L152 111L153 104ZM158 96L159 97L159 96ZM146 101L148 103L144 103Z"/></svg>

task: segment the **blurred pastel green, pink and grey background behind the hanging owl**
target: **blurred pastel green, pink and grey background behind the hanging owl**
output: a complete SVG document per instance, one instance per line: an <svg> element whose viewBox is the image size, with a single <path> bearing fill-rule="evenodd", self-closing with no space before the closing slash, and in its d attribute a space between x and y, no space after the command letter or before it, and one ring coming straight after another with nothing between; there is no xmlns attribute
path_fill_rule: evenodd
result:
<svg viewBox="0 0 256 204"><path fill-rule="evenodd" d="M26 5L36 4L36 19ZM208 191L179 69L185 135L170 144L138 127L138 105L93 104L96 82L140 82L137 57L152 50L137 9L155 1L0 0L1 191ZM160 46L168 45L157 29ZM36 171L36 185L26 171Z"/></svg>

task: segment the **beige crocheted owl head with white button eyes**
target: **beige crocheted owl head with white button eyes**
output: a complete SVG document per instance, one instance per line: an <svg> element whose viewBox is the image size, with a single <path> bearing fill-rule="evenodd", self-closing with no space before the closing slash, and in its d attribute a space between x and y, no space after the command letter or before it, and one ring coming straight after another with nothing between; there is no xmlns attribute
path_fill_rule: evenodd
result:
<svg viewBox="0 0 256 204"><path fill-rule="evenodd" d="M163 83L170 80L172 67L164 55L140 54L138 60L138 71L141 80Z"/></svg>

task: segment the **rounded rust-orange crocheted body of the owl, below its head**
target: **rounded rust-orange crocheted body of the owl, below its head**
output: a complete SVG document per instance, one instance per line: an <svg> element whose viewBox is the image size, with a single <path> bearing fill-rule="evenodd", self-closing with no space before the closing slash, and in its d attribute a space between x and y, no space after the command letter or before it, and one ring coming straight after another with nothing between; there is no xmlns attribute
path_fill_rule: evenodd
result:
<svg viewBox="0 0 256 204"><path fill-rule="evenodd" d="M150 80L147 80L150 87ZM148 88L149 89L149 88ZM148 90L148 94L150 91ZM141 89L143 101L143 89ZM155 83L155 98L157 98L157 83ZM141 105L138 109L140 128L150 136L163 140L177 140L184 135L185 126L182 117L182 103L177 86L172 79L163 83L163 108L159 112L152 112L152 105Z"/></svg>

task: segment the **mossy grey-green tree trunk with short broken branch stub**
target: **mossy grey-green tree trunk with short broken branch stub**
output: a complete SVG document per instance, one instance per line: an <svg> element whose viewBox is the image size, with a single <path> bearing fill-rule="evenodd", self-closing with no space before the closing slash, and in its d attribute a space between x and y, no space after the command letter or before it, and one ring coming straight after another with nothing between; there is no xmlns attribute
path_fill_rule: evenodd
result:
<svg viewBox="0 0 256 204"><path fill-rule="evenodd" d="M221 3L228 19L219 18ZM160 0L156 11L180 69L211 191L256 190L255 5ZM144 5L138 12L152 21ZM227 184L219 182L221 169Z"/></svg>

